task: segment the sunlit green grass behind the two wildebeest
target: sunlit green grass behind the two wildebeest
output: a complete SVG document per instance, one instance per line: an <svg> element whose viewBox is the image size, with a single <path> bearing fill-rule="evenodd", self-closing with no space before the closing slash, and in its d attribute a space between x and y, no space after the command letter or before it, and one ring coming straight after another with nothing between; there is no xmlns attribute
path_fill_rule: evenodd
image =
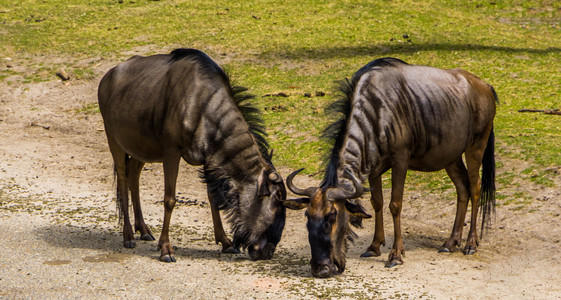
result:
<svg viewBox="0 0 561 300"><path fill-rule="evenodd" d="M478 75L501 100L497 152L542 170L561 165L560 117L517 112L561 107L559 1L0 0L0 12L2 58L60 56L79 80L95 77L80 60L207 52L258 96L277 165L320 170L334 82L383 56ZM279 92L288 97L263 97ZM550 184L548 172L534 175L524 176ZM450 187L445 173L419 180Z"/></svg>

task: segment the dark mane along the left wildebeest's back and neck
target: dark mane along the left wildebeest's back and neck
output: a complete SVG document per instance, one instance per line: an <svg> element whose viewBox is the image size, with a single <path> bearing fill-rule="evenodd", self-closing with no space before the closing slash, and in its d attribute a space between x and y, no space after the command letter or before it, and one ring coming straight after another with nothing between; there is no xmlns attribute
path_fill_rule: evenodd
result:
<svg viewBox="0 0 561 300"><path fill-rule="evenodd" d="M263 157L269 161L269 144L265 139L267 133L265 132L265 125L261 117L261 111L253 106L248 100L255 98L255 95L245 93L247 88L242 86L233 86L230 76L216 63L212 58L204 52L196 49L175 49L171 53L170 63L182 59L194 60L198 63L204 73L217 74L222 78L224 84L230 88L230 95L234 99L236 106L240 110L242 117L249 125L249 131L253 135L259 151ZM270 162L270 161L269 161Z"/></svg>

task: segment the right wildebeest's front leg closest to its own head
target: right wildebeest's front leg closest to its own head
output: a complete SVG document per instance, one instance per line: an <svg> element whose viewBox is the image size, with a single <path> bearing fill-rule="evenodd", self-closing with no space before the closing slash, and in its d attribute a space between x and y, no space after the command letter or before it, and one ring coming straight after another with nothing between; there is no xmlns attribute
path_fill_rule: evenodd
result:
<svg viewBox="0 0 561 300"><path fill-rule="evenodd" d="M376 225L374 227L374 238L372 240L372 244L370 244L370 247L366 249L366 252L364 252L361 257L380 256L382 254L382 252L380 251L380 246L386 245L382 211L384 205L384 196L382 193L382 176L369 178L368 181L370 182L372 190L370 203L372 203L372 207L374 208Z"/></svg>

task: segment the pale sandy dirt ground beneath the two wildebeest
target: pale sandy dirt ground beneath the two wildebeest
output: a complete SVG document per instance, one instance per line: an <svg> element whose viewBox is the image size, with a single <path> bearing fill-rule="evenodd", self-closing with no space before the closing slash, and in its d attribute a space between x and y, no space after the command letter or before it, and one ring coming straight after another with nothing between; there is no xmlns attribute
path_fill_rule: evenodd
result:
<svg viewBox="0 0 561 300"><path fill-rule="evenodd" d="M393 241L386 208L382 256L359 258L373 234L373 220L366 220L347 254L347 270L316 279L309 271L302 211L288 213L274 259L252 262L245 253L222 254L213 240L205 186L197 168L183 164L170 233L177 263L158 261L157 242L123 248L101 117L76 111L97 101L99 79L115 63L101 60L94 80L63 83L53 76L52 81L21 84L14 76L0 83L0 298L561 297L559 175L555 188L529 181L499 186L498 193L505 195L516 195L513 189L523 186L531 199L524 205L499 205L492 229L472 256L437 253L452 228L455 191L435 195L409 189L402 220L405 264L384 267ZM10 61L10 67L23 70L26 65ZM527 164L497 160L502 163L498 176ZM290 172L280 171L283 177ZM317 184L305 176L297 179L300 186ZM145 218L158 238L161 165L146 166L141 186ZM362 201L372 212L368 196Z"/></svg>

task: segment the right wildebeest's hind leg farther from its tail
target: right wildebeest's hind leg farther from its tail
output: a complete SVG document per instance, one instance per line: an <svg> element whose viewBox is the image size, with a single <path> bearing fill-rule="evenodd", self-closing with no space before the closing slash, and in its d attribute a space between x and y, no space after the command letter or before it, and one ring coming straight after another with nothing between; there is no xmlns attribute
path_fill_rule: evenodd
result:
<svg viewBox="0 0 561 300"><path fill-rule="evenodd" d="M452 179L456 186L458 201L452 234L438 252L453 252L456 246L461 246L462 231L469 200L469 178L461 156L455 163L446 168L446 173L448 173L448 176L450 176L450 179Z"/></svg>

